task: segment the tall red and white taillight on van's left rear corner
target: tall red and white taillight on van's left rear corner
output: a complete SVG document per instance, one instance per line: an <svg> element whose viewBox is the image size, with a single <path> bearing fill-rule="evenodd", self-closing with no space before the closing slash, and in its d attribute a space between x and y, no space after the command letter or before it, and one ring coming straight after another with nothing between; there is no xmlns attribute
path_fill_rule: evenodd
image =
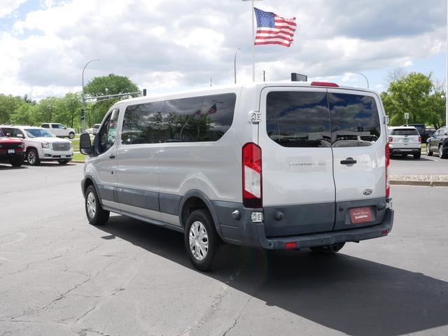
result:
<svg viewBox="0 0 448 336"><path fill-rule="evenodd" d="M262 207L261 148L253 143L243 146L243 205Z"/></svg>

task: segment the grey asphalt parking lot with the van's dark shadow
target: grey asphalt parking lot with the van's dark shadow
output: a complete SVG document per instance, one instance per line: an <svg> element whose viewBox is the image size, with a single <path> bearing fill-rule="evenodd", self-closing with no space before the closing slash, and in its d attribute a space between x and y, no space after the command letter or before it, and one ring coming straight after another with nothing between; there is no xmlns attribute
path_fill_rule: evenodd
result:
<svg viewBox="0 0 448 336"><path fill-rule="evenodd" d="M448 335L448 188L392 186L391 235L337 255L233 248L204 274L177 232L89 225L82 167L0 165L0 335Z"/></svg>

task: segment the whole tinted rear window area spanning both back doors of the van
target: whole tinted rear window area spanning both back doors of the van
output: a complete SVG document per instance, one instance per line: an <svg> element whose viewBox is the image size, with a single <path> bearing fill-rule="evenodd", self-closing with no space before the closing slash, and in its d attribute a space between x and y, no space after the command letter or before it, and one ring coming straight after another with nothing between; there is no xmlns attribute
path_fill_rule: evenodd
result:
<svg viewBox="0 0 448 336"><path fill-rule="evenodd" d="M283 147L357 147L381 133L377 104L362 94L274 91L267 94L268 136Z"/></svg>

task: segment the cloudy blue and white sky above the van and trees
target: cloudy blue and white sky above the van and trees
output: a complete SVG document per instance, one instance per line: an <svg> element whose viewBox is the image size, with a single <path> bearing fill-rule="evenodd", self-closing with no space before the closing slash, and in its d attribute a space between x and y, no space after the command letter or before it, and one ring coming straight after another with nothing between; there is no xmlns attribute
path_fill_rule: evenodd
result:
<svg viewBox="0 0 448 336"><path fill-rule="evenodd" d="M446 0L262 0L296 18L290 48L255 46L255 79L328 80L378 92L393 71L446 78ZM0 94L61 97L115 73L148 94L252 79L251 2L1 0Z"/></svg>

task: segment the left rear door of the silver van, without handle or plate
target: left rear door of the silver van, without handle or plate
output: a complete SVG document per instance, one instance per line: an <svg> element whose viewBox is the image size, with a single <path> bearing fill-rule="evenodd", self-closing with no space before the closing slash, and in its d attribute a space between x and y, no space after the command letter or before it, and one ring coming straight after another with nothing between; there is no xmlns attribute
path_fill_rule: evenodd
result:
<svg viewBox="0 0 448 336"><path fill-rule="evenodd" d="M327 90L265 87L260 98L266 236L331 231L335 183Z"/></svg>

